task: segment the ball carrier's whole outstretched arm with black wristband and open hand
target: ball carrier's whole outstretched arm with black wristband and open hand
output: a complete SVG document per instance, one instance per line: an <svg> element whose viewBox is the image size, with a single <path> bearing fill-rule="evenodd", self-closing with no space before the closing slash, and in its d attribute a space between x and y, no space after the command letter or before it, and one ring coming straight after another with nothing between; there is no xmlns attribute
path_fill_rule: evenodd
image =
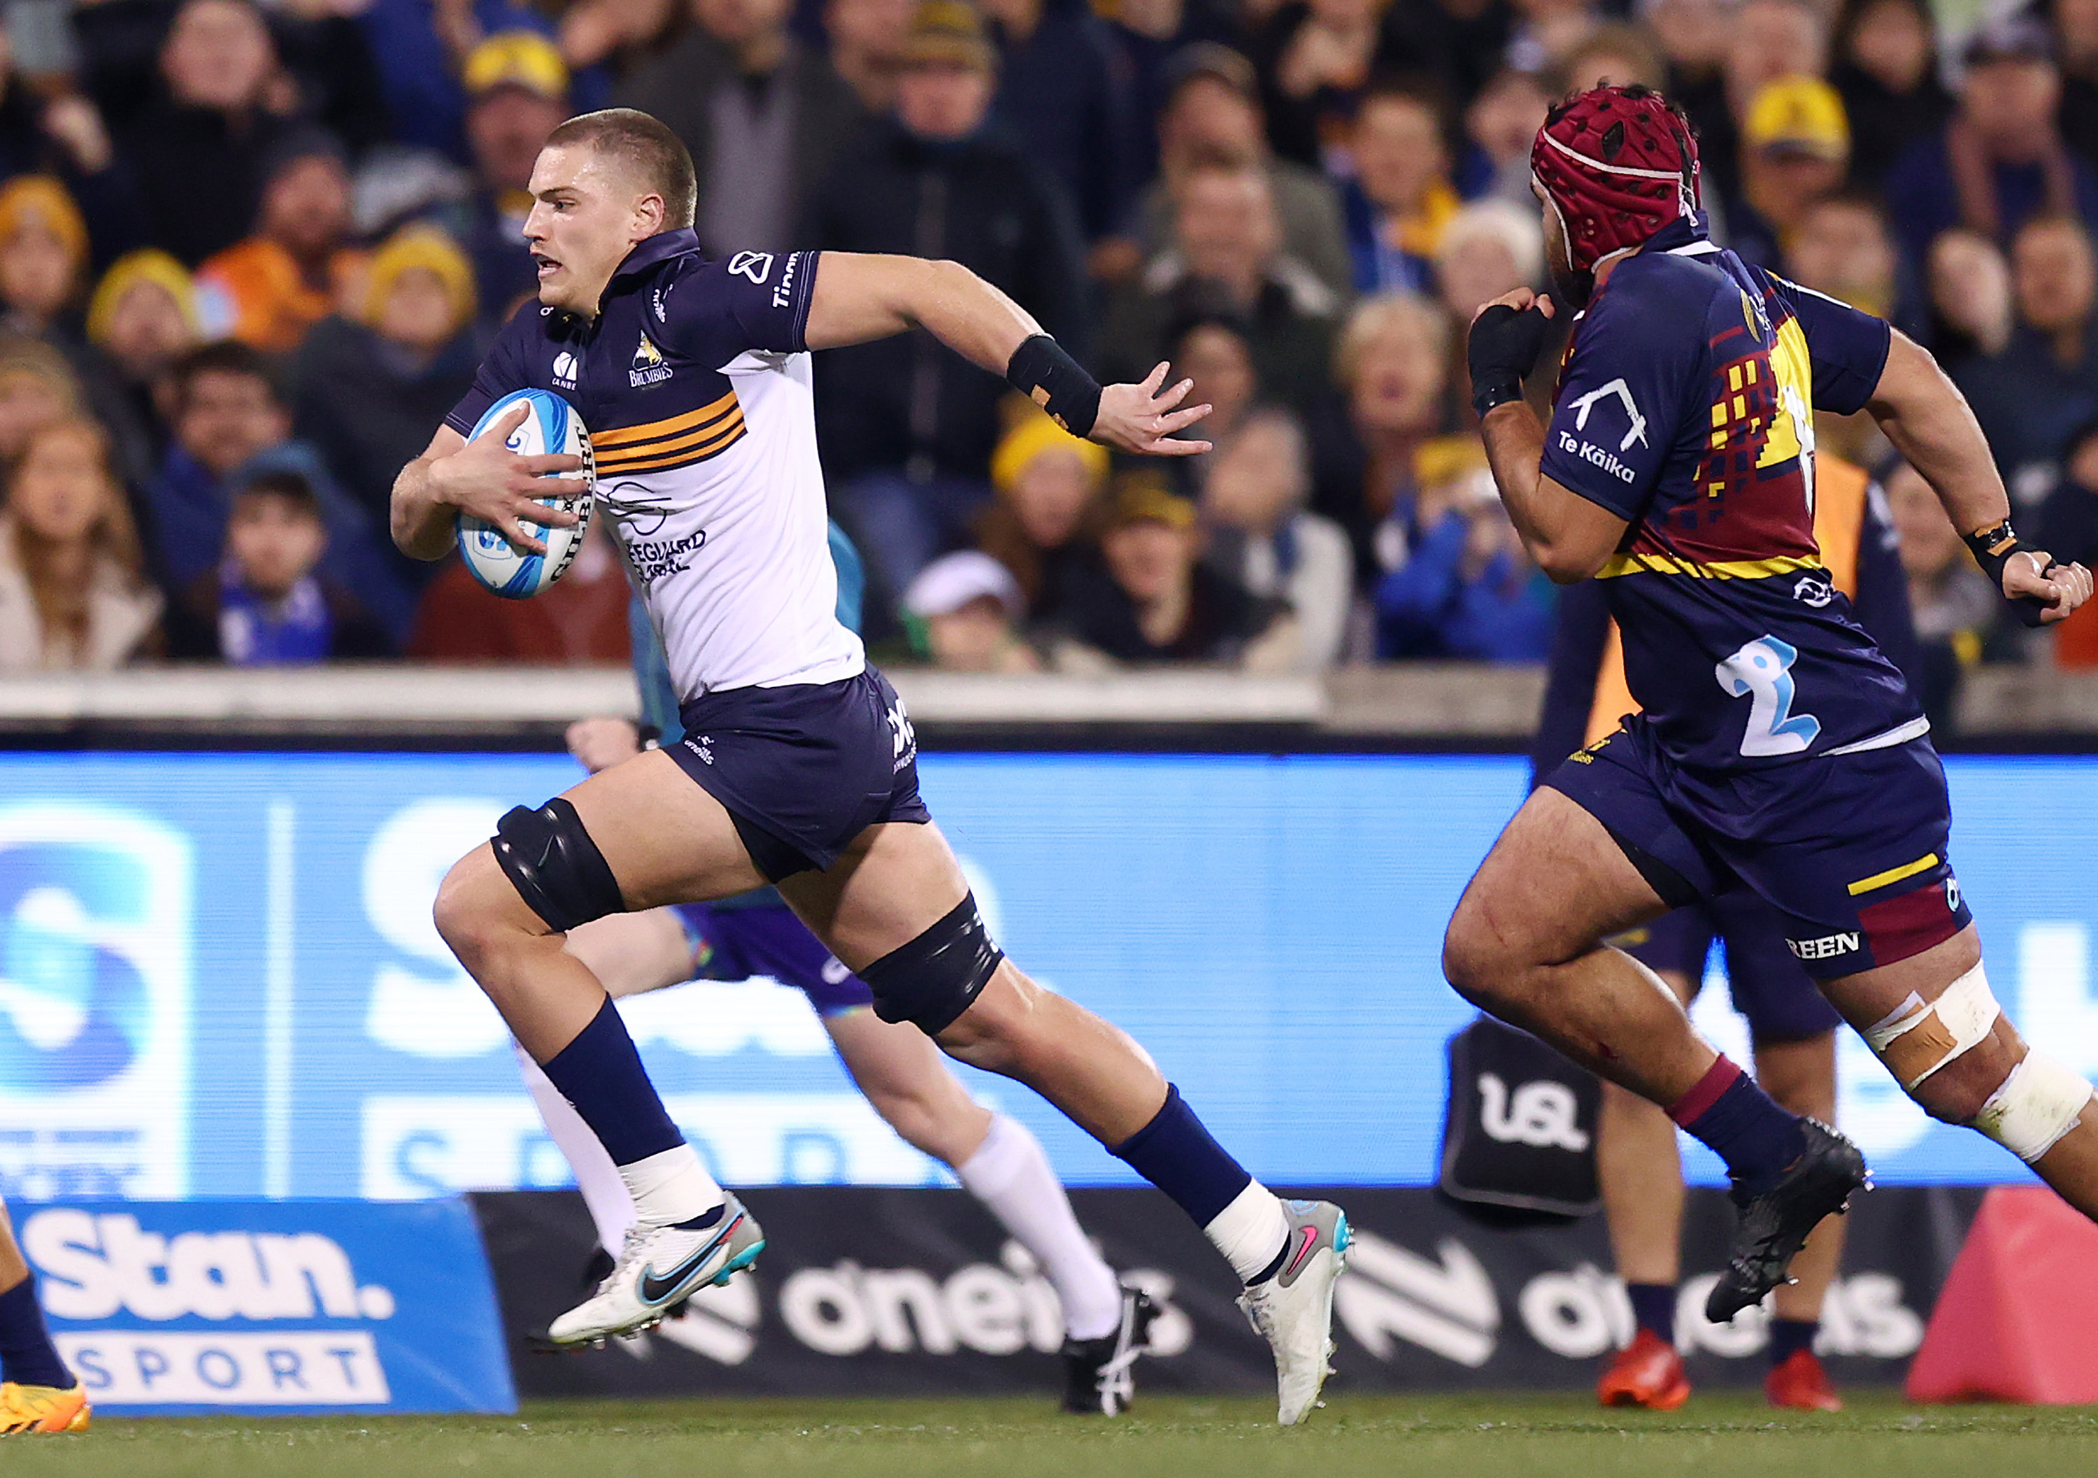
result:
<svg viewBox="0 0 2098 1478"><path fill-rule="evenodd" d="M1026 309L961 262L856 252L818 258L810 349L866 344L913 328L1005 376L1074 437L1150 456L1208 451L1206 441L1171 439L1208 416L1208 405L1177 409L1194 380L1166 386L1166 365L1158 365L1143 384L1097 384Z"/></svg>

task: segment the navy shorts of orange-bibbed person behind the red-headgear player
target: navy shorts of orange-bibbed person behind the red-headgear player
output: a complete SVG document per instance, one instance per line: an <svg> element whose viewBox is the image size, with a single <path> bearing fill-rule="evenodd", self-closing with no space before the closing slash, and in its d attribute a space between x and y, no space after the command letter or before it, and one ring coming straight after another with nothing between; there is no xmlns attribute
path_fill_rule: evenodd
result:
<svg viewBox="0 0 2098 1478"><path fill-rule="evenodd" d="M1609 943L1649 970L1689 976L1695 995L1714 938L1727 947L1727 993L1756 1043L1808 1041L1842 1027L1785 947L1783 917L1748 888L1674 909Z"/></svg>

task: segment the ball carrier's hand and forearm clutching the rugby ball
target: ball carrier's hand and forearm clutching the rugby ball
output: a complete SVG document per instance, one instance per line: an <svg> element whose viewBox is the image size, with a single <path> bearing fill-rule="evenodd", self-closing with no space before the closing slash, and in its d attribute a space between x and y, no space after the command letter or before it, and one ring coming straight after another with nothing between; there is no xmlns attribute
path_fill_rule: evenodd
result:
<svg viewBox="0 0 2098 1478"><path fill-rule="evenodd" d="M566 527L575 514L548 508L541 498L581 498L581 479L550 479L550 472L581 470L581 458L520 458L504 445L531 414L514 405L508 416L468 441L451 426L438 426L430 447L401 468L392 491L394 546L409 558L445 558L451 552L462 512L487 519L529 554L545 554L545 544L527 533L524 523Z"/></svg>

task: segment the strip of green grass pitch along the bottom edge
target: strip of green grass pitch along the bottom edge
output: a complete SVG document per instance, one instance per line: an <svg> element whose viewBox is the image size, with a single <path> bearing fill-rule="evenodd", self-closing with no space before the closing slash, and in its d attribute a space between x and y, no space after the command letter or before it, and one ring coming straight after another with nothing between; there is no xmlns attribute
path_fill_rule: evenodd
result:
<svg viewBox="0 0 2098 1478"><path fill-rule="evenodd" d="M2098 1474L2098 1407L1907 1407L1842 1415L1697 1396L1672 1415L1580 1396L1334 1396L1294 1432L1273 1402L1139 1398L1120 1421L1043 1400L533 1402L516 1417L99 1419L6 1442L0 1474L113 1478L2052 1478Z"/></svg>

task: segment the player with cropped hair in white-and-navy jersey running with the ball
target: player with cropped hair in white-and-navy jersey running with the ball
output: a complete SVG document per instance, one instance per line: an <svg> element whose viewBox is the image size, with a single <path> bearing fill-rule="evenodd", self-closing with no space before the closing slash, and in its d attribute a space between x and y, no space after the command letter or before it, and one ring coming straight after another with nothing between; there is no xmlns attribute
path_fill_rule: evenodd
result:
<svg viewBox="0 0 2098 1478"><path fill-rule="evenodd" d="M392 493L407 554L443 558L462 512L537 550L535 500L577 493L571 458L468 441L527 386L590 428L600 510L663 640L686 737L529 810L445 878L436 928L512 1035L604 1144L634 1195L619 1262L556 1318L556 1344L644 1329L764 1247L749 1211L692 1155L566 930L629 909L778 886L875 997L963 1062L1041 1092L1164 1190L1225 1255L1276 1356L1278 1417L1326 1379L1347 1218L1284 1203L1202 1127L1125 1033L1043 991L990 941L917 791L917 741L894 689L837 621L810 351L927 330L1003 374L1074 435L1131 453L1177 441L1206 405L1190 384L1097 384L1011 298L955 262L736 252L692 235L692 160L629 109L548 139L524 225L539 300L497 336L474 388ZM550 481L541 481L554 474Z"/></svg>

